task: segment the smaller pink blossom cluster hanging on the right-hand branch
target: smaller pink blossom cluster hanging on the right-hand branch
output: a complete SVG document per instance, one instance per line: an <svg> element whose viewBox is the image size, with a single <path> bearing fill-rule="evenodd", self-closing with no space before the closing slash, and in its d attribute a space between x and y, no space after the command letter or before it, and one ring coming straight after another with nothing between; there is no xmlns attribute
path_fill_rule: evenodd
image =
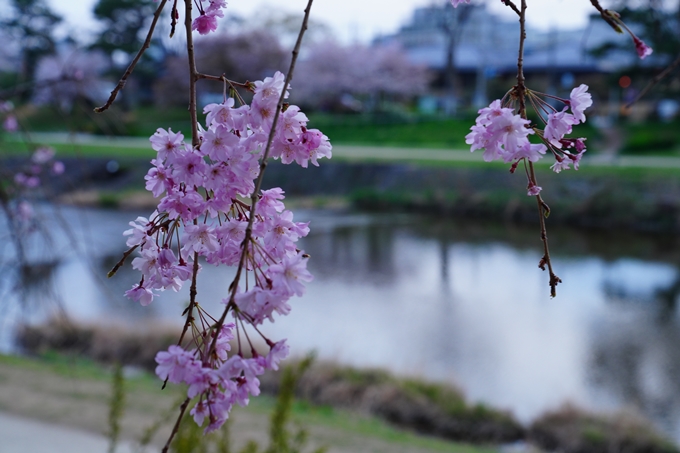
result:
<svg viewBox="0 0 680 453"><path fill-rule="evenodd" d="M561 102L564 108L556 109L541 96ZM586 151L586 139L565 138L565 135L572 132L572 126L586 121L583 112L593 104L588 86L580 85L571 90L569 99L541 95L532 90L527 90L527 97L544 123L544 129L532 126L531 121L515 113L514 108L504 107L503 101L497 99L479 110L472 132L465 136L465 143L471 145L470 151L484 149L485 161L502 159L512 163L511 171L514 171L521 160L536 162L550 150L556 161L551 168L556 173L569 169L570 164L578 170ZM536 135L542 143L531 143L529 135ZM539 186L530 183L530 196L540 191Z"/></svg>

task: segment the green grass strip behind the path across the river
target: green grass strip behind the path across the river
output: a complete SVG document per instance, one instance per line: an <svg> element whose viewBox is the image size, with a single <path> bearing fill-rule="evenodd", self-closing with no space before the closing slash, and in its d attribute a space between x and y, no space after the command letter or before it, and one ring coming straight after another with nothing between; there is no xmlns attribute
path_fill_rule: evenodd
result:
<svg viewBox="0 0 680 453"><path fill-rule="evenodd" d="M339 115L312 112L309 127L323 131L334 144L397 146L418 148L465 148L465 135L474 124L476 113L461 118L424 117L407 114ZM203 121L203 115L200 115ZM101 114L91 106L79 106L71 112L55 108L26 106L19 109L21 124L29 131L76 131L100 135L149 137L158 127L189 133L189 116L184 108L141 107L122 111L118 106ZM680 119L672 123L649 120L617 126L623 135L622 152L635 155L680 154ZM591 153L600 140L599 132L586 122L574 128L575 134L588 139Z"/></svg>

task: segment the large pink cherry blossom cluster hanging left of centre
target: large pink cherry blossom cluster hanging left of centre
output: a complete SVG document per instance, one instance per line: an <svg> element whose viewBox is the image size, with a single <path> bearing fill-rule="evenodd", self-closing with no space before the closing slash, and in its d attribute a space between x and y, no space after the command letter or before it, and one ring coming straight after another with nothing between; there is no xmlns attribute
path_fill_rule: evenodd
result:
<svg viewBox="0 0 680 453"><path fill-rule="evenodd" d="M288 300L303 295L304 282L311 281L312 275L307 271L307 255L295 245L308 234L308 224L293 221L293 213L282 202L283 190L261 191L252 219L251 206L242 201L256 189L258 160L267 147L284 76L277 72L249 86L254 93L250 105L235 108L228 98L205 107L207 129L200 129L198 146L186 144L184 136L172 130L158 129L151 137L158 155L145 178L146 188L161 199L151 217L130 222L132 228L124 233L131 248L128 253L139 248L140 256L132 266L142 274L126 295L148 305L159 291L178 291L195 279L198 257L212 265L245 263L245 277L233 283L235 294L222 302L236 326L250 324L260 333L257 325L273 321L275 313L290 312ZM317 159L330 158L328 137L307 129L307 121L297 106L281 112L271 156L302 167L309 162L318 166ZM246 234L249 225L252 229ZM265 357L251 344L253 359L244 359L240 347L237 355L228 358L234 324L223 326L215 339L215 327L221 323L200 306L196 309L202 326L192 329L199 332L192 345L198 347L173 346L160 352L156 371L162 379L189 384L188 396L200 396L192 410L194 419L201 424L208 417L208 430L212 430L224 422L234 402L246 404L249 394L257 395L256 376L276 369L288 348L265 338L271 348Z"/></svg>

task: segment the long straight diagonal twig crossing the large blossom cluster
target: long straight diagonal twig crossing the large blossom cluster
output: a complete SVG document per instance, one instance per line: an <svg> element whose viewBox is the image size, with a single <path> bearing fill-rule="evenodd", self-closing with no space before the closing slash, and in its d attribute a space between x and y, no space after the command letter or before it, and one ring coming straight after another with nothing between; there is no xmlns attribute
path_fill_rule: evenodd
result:
<svg viewBox="0 0 680 453"><path fill-rule="evenodd" d="M312 2L314 0L309 0L307 3L307 8L305 8L305 17L302 20L302 26L300 27L300 33L298 34L297 41L295 42L295 47L293 48L293 58L290 62L290 67L288 68L288 74L286 74L286 80L283 83L283 90L281 91L281 96L279 97L279 102L276 105L276 113L274 114L274 119L272 121L272 128L269 131L269 137L267 139L267 147L264 150L264 154L262 156L262 160L260 162L260 174L257 176L257 180L255 181L255 189L253 190L253 193L250 197L250 216L248 218L248 226L246 227L246 232L245 232L245 238L243 239L243 242L241 243L241 246L243 247L243 250L241 251L241 258L239 259L238 263L238 268L236 269L236 276L234 277L234 280L231 283L230 291L231 293L229 294L229 302L227 303L227 306L225 307L224 311L222 312L222 316L220 317L220 320L217 322L217 325L215 326L216 331L220 331L222 329L222 325L224 325L224 321L227 318L227 313L231 308L235 306L234 299L236 297L236 290L238 289L238 282L241 279L241 273L243 272L243 268L246 263L246 256L248 255L248 245L250 244L250 240L253 234L253 222L255 220L255 206L257 205L257 200L258 200L258 193L260 192L260 188L262 187L262 180L264 178L264 171L267 168L267 160L269 159L269 151L271 150L272 142L274 140L274 134L276 132L276 125L278 123L279 119L279 114L281 113L281 109L283 108L283 101L286 97L286 91L288 90L288 85L290 84L291 79L293 78L293 71L295 70L295 63L297 62L297 57L298 54L300 53L300 45L302 44L302 37L305 34L305 31L307 30L307 24L309 23L309 13L312 9ZM213 338L213 341L210 345L210 349L208 352L208 356L212 354L212 351L215 349L215 346L217 345L217 336Z"/></svg>

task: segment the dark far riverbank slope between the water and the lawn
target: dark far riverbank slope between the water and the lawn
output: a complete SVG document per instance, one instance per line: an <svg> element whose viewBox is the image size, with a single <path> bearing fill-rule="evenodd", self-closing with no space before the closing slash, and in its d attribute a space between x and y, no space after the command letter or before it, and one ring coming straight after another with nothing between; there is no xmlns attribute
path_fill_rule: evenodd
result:
<svg viewBox="0 0 680 453"><path fill-rule="evenodd" d="M352 205L369 211L412 211L454 219L510 223L537 222L536 201L526 195L526 180L507 165L486 164L456 151L414 150L422 159L398 163L404 150L348 148L363 157L342 158L302 169L272 162L268 187L282 187L288 199L305 206ZM363 150L363 151L362 151ZM391 156L371 161L370 153ZM337 154L342 155L341 151ZM376 155L377 155L376 154ZM459 155L460 154L460 155ZM349 155L349 154L347 154ZM440 160L427 160L437 157ZM79 205L153 209L143 189L148 159L67 158L67 174L53 181L60 200ZM18 165L12 159L3 164ZM581 170L555 174L537 168L548 225L645 232L680 231L680 159L621 158L584 162Z"/></svg>

